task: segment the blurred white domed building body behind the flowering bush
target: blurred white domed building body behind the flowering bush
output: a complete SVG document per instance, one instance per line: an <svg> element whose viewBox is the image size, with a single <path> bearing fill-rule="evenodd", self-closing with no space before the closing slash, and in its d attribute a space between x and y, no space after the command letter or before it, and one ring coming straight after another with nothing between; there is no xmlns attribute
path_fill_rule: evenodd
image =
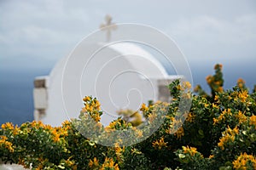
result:
<svg viewBox="0 0 256 170"><path fill-rule="evenodd" d="M42 121L59 126L68 117L78 117L82 99L92 95L100 100L103 111L110 114L102 116L102 123L107 125L116 118L113 116L119 109L137 110L141 103L156 100L156 80L166 77L163 65L135 44L120 42L104 48L100 43L78 46L49 75L48 108Z"/></svg>

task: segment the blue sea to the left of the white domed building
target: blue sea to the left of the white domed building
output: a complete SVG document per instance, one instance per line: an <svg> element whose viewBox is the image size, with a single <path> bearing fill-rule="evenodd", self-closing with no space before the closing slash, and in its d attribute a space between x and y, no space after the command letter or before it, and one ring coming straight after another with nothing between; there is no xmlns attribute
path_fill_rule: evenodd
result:
<svg viewBox="0 0 256 170"><path fill-rule="evenodd" d="M48 74L49 70L0 71L0 124L33 120L33 79Z"/></svg>

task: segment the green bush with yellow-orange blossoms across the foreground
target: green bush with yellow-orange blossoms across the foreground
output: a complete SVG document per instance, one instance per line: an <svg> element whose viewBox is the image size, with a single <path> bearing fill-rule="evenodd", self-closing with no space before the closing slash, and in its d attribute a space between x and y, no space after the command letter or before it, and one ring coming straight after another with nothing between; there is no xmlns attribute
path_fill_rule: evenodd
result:
<svg viewBox="0 0 256 170"><path fill-rule="evenodd" d="M222 65L215 71L207 77L211 94L200 86L193 93L188 82L177 80L169 85L170 104L150 102L140 111L120 111L124 118L107 127L100 122L99 101L90 96L79 118L61 127L7 122L0 129L0 158L33 169L256 169L255 89L250 94L238 79L233 89L224 90ZM192 99L192 106L180 116L181 97ZM151 128L140 129L160 120L149 137ZM132 145L119 138L119 130L133 137ZM102 145L109 141L113 145Z"/></svg>

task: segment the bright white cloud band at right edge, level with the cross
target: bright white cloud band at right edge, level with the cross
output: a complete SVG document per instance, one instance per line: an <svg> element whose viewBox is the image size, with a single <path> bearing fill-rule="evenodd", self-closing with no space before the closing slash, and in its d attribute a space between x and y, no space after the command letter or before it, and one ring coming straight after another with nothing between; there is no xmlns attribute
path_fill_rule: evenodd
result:
<svg viewBox="0 0 256 170"><path fill-rule="evenodd" d="M206 15L181 19L172 23L169 32L177 37L215 37L220 42L241 44L249 39L256 40L256 15L243 15L235 20Z"/></svg>

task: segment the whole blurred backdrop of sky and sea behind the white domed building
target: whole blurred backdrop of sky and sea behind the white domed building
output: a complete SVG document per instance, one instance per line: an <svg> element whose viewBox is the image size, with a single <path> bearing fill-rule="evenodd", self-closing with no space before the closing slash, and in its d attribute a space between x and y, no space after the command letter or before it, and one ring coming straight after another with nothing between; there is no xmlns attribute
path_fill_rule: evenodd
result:
<svg viewBox="0 0 256 170"><path fill-rule="evenodd" d="M256 84L256 2L0 0L0 124L33 120L33 79L111 14L115 23L138 23L163 31L188 59L194 86L209 91L205 77L224 65L224 88L241 77Z"/></svg>

